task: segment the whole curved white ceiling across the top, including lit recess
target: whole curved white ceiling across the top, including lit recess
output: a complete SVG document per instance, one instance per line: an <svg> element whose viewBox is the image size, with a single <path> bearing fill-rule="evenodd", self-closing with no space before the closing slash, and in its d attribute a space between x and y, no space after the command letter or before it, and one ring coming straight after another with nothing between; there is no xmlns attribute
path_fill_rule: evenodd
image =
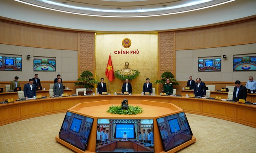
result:
<svg viewBox="0 0 256 153"><path fill-rule="evenodd" d="M256 0L0 0L0 18L66 30L159 32L249 19L255 8Z"/></svg>

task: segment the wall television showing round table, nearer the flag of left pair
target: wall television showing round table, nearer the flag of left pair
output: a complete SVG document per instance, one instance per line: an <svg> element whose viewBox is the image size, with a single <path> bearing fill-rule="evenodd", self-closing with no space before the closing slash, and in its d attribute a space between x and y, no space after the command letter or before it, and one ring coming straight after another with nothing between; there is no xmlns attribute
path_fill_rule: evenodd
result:
<svg viewBox="0 0 256 153"><path fill-rule="evenodd" d="M56 71L56 60L51 58L34 58L34 71Z"/></svg>

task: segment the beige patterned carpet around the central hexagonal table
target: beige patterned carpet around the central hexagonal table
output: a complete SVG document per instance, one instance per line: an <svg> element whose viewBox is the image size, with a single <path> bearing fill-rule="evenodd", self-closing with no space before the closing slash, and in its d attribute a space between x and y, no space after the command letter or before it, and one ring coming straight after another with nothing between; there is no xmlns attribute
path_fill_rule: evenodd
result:
<svg viewBox="0 0 256 153"><path fill-rule="evenodd" d="M186 114L196 142L179 153L256 153L256 128ZM73 153L55 141L65 113L0 126L0 153Z"/></svg>

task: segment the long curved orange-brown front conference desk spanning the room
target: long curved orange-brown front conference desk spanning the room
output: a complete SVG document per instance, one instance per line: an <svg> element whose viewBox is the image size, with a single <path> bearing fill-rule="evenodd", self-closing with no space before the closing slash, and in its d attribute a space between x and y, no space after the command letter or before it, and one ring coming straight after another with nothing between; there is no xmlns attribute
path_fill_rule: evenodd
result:
<svg viewBox="0 0 256 153"><path fill-rule="evenodd" d="M128 104L132 100L148 100L173 103L186 113L205 115L256 127L256 105L239 104L219 100L197 99L174 96L145 96L145 95L95 95L62 98L46 98L26 100L10 104L0 104L0 125L38 117L43 115L63 113L81 102L95 102L101 100L124 100Z"/></svg>

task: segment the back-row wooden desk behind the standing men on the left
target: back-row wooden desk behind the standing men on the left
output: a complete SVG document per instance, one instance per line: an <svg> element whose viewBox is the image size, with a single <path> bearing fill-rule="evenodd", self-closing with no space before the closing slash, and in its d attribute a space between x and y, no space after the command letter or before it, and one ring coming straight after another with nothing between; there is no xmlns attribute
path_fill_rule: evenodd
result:
<svg viewBox="0 0 256 153"><path fill-rule="evenodd" d="M73 89L64 89L64 93L68 94L68 95L72 95L72 90ZM47 97L50 96L49 95L49 90L38 90L36 92L37 92L37 95L47 96ZM14 100L18 99L17 91L16 92L3 92L3 93L0 93L0 102L6 100L7 98L13 98Z"/></svg>

